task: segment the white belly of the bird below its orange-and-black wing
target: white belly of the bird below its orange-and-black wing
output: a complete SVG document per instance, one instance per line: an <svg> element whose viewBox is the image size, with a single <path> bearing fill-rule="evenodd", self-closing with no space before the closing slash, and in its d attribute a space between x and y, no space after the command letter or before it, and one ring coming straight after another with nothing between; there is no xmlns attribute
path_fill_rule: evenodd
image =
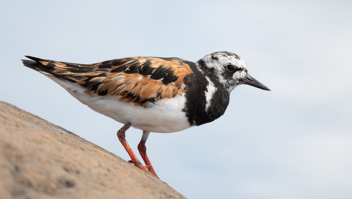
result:
<svg viewBox="0 0 352 199"><path fill-rule="evenodd" d="M131 122L132 127L155 133L172 133L189 128L184 108L185 97L161 99L147 108L136 107L132 103L118 101L117 97L87 94L86 88L50 77L66 89L72 96L93 110L113 118L120 123Z"/></svg>

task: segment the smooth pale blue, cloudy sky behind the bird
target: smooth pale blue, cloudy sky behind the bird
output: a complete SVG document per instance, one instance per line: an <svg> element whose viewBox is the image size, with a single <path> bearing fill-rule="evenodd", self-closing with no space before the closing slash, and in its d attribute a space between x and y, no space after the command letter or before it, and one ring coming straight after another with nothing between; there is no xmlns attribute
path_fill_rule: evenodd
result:
<svg viewBox="0 0 352 199"><path fill-rule="evenodd" d="M218 120L152 133L146 146L159 177L188 198L350 199L351 11L352 1L336 0L2 1L0 100L129 160L116 136L122 124L20 59L195 62L234 52L272 91L238 86ZM136 154L141 135L126 133Z"/></svg>

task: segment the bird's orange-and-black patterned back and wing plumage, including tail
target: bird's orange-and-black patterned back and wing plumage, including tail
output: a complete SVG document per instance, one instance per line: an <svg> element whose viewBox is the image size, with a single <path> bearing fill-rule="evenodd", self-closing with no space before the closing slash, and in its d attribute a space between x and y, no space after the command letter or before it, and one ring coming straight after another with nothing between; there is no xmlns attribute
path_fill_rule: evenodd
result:
<svg viewBox="0 0 352 199"><path fill-rule="evenodd" d="M88 94L116 96L121 102L142 107L147 102L181 95L187 87L185 79L194 76L194 63L180 58L129 57L74 64L26 57L33 61L23 60L23 65L81 85Z"/></svg>

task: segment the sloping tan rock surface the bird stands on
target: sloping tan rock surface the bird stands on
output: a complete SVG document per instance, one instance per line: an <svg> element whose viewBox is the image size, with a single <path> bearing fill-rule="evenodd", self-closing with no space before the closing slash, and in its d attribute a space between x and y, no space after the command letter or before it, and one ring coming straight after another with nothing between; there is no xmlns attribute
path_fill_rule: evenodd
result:
<svg viewBox="0 0 352 199"><path fill-rule="evenodd" d="M185 198L61 127L0 101L0 198Z"/></svg>

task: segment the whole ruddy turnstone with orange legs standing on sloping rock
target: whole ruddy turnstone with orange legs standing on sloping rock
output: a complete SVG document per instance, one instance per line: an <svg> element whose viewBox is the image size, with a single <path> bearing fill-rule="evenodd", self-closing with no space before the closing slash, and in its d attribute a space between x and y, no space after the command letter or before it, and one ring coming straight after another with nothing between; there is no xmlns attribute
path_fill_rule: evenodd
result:
<svg viewBox="0 0 352 199"><path fill-rule="evenodd" d="M128 57L95 64L73 64L26 56L23 65L43 73L93 110L124 124L117 136L129 162L156 175L146 154L150 132L172 133L212 122L225 113L230 92L247 84L270 90L247 73L231 52L214 52L196 63L171 57ZM125 140L130 128L143 130L138 150Z"/></svg>

